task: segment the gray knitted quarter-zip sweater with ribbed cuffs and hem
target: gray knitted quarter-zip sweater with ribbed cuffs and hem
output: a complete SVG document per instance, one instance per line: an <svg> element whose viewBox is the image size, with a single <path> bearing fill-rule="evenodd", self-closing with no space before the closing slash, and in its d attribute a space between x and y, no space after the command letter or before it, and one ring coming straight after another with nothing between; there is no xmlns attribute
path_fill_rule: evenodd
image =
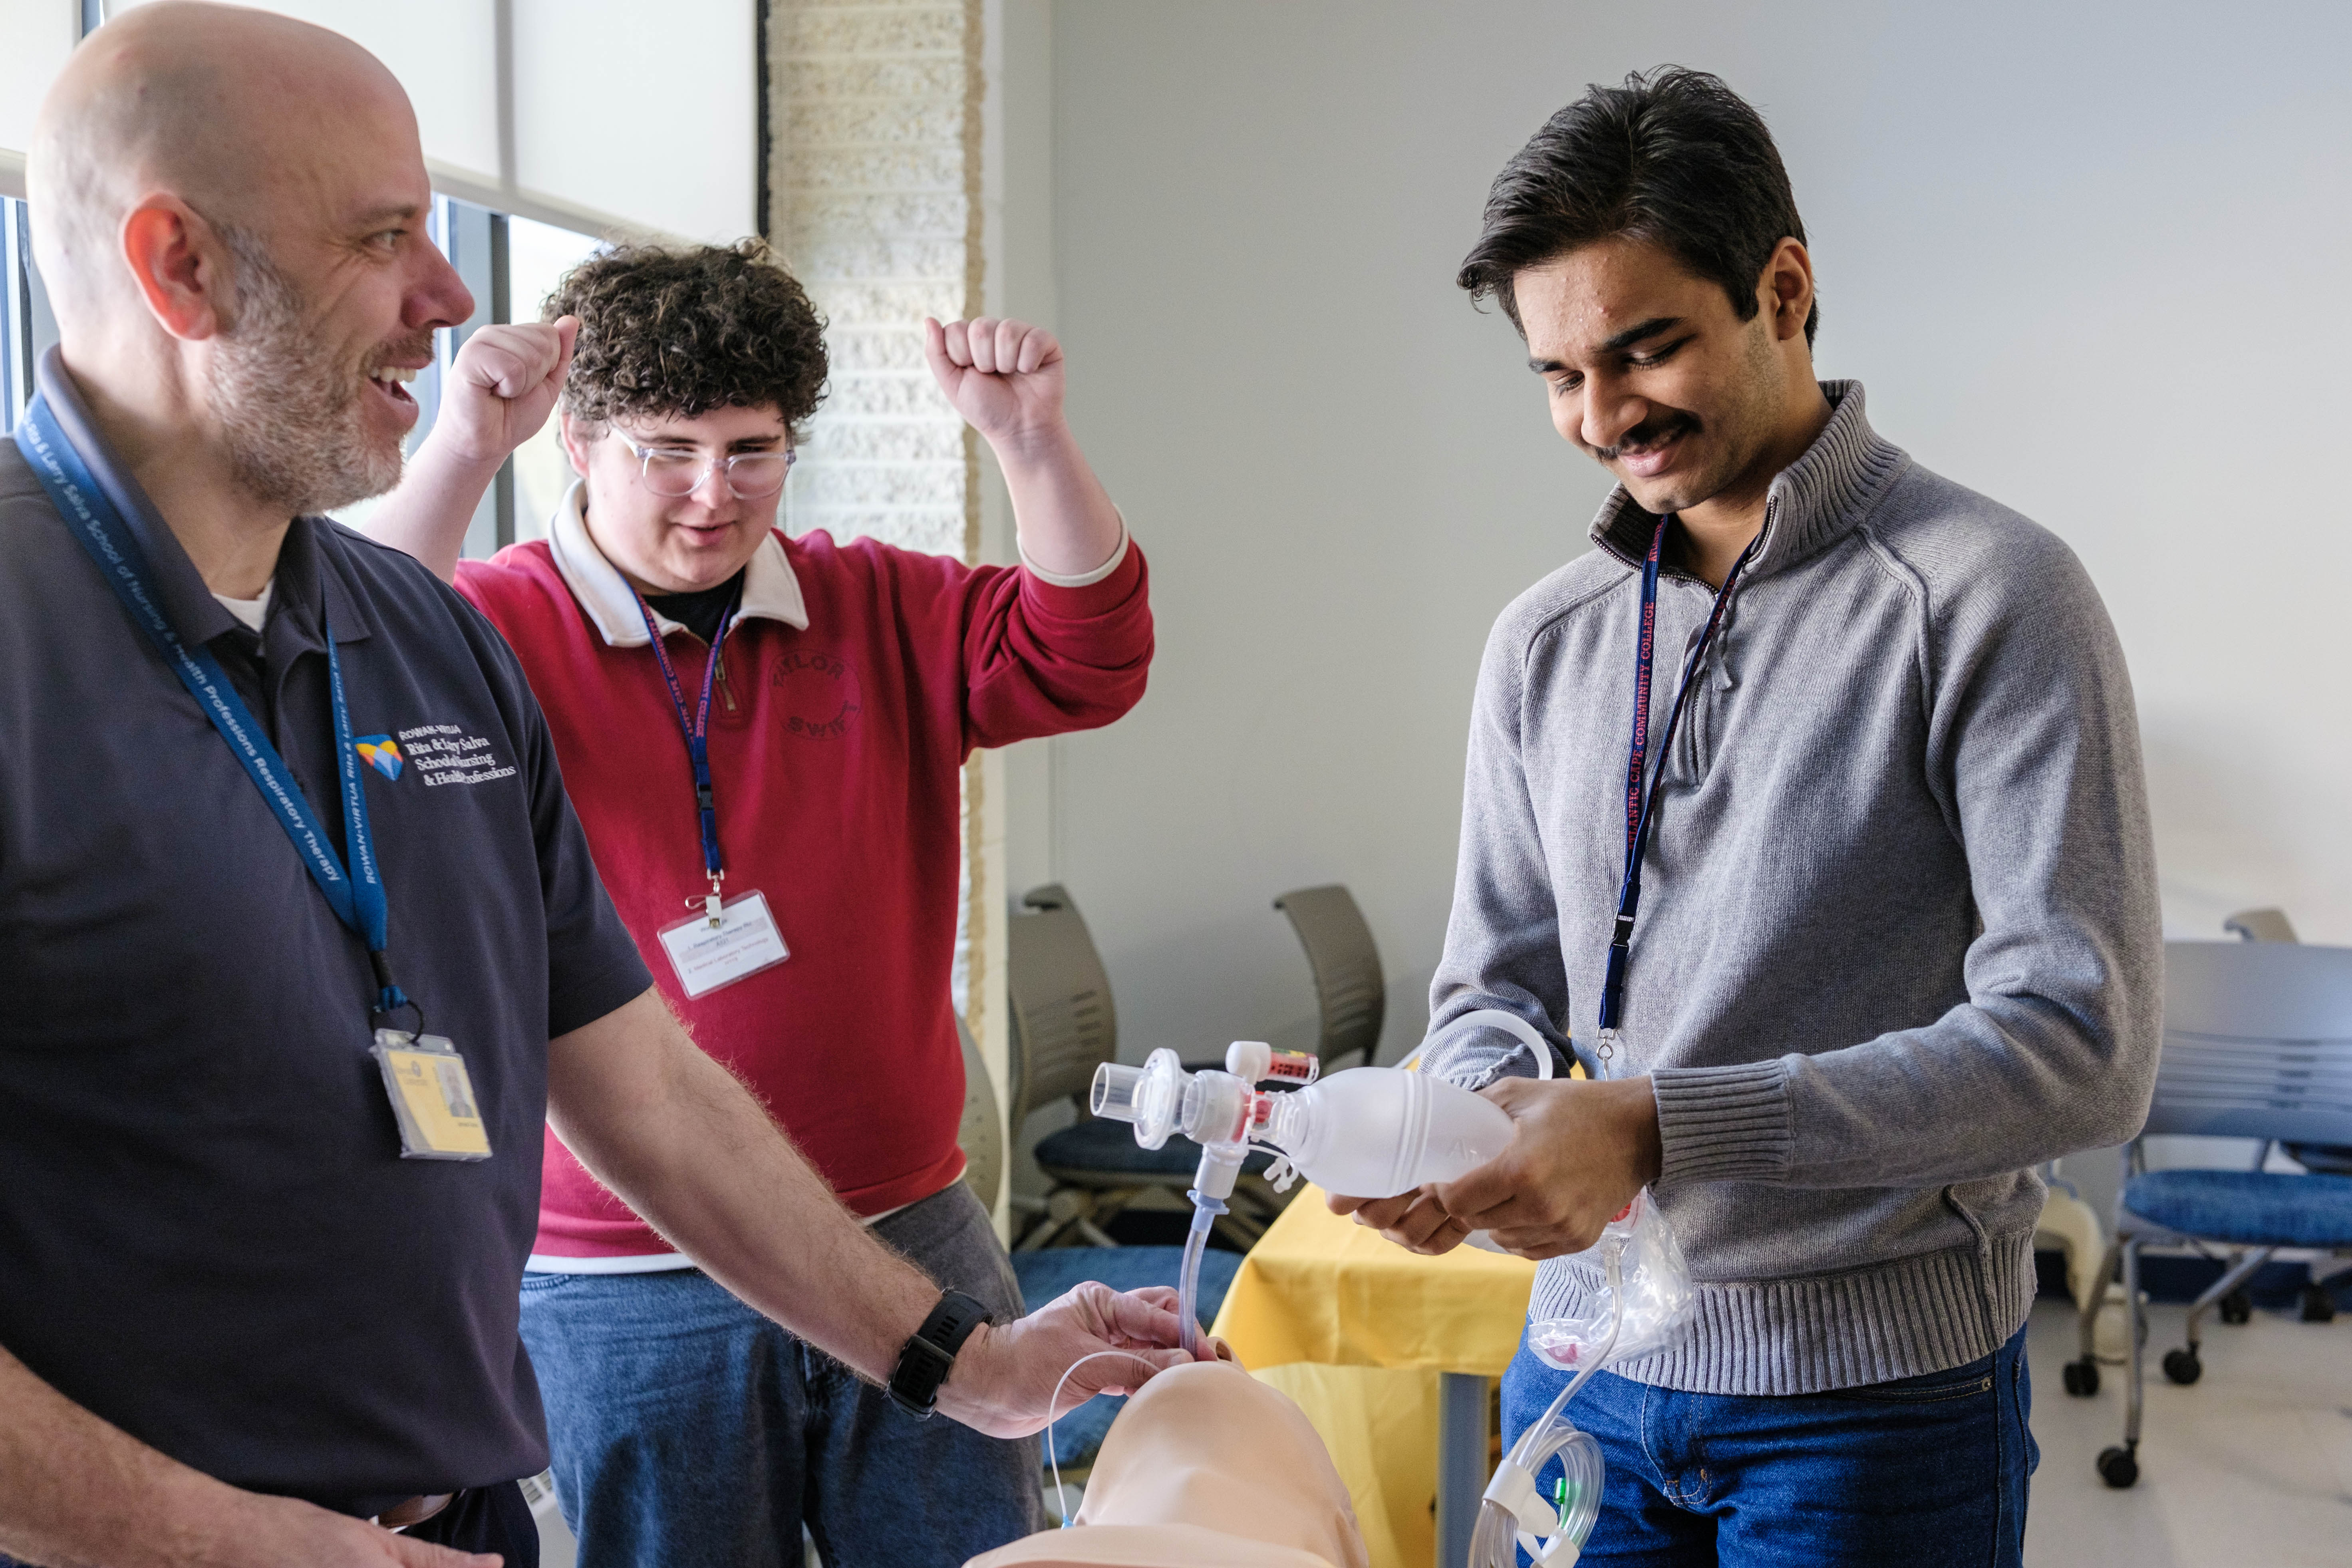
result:
<svg viewBox="0 0 2352 1568"><path fill-rule="evenodd" d="M2138 724L2091 578L1879 440L1858 383L1823 390L1663 764L1611 1065L1656 1084L1658 1204L1700 1281L1689 1335L1616 1371L1708 1394L1997 1349L2034 1291L2032 1166L2138 1131L2161 1032ZM1618 489L1599 548L1486 642L1432 1030L1510 1009L1595 1067L1656 524ZM1665 571L1653 722L1710 602ZM1534 1065L1482 1032L1428 1070ZM1557 1258L1529 1314L1595 1288Z"/></svg>

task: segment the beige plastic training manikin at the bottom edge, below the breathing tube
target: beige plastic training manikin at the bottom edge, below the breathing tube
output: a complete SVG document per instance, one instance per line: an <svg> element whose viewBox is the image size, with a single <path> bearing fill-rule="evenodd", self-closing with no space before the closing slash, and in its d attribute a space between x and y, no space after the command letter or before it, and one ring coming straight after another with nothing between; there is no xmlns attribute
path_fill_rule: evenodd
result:
<svg viewBox="0 0 2352 1568"><path fill-rule="evenodd" d="M964 1568L1367 1568L1348 1486L1305 1413L1232 1361L1145 1382L1087 1476L1077 1528Z"/></svg>

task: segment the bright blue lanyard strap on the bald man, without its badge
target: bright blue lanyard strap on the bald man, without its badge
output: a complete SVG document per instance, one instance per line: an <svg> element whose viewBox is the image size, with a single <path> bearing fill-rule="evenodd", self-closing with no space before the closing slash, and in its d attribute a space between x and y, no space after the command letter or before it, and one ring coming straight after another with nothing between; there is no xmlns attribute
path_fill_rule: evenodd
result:
<svg viewBox="0 0 2352 1568"><path fill-rule="evenodd" d="M327 625L325 604L318 621L320 635L327 639L327 689L334 698L336 773L343 790L343 839L350 846L350 875L343 872L334 844L327 842L325 830L310 811L310 802L303 797L301 785L294 783L294 771L287 769L278 748L270 745L268 733L254 722L238 689L228 684L221 663L209 649L181 642L172 628L172 618L165 616L162 604L148 588L146 552L122 524L115 503L99 489L82 454L66 440L47 397L35 395L26 407L24 418L16 423L16 449L33 465L33 473L40 475L49 501L66 520L66 531L73 534L75 543L96 564L99 576L106 578L115 599L122 602L122 609L129 611L139 630L148 635L162 661L172 665L179 684L188 689L195 705L221 731L221 741L228 743L230 755L245 764L247 778L254 780L261 799L278 813L278 825L294 842L294 851L301 853L318 891L327 896L327 907L367 943L367 959L376 971L379 987L376 1011L390 1013L393 1009L416 1006L393 983L390 959L386 957L390 917L383 900L383 875L376 865L376 844L367 832L367 790L360 785L360 748L350 741L343 665L334 654L334 628Z"/></svg>

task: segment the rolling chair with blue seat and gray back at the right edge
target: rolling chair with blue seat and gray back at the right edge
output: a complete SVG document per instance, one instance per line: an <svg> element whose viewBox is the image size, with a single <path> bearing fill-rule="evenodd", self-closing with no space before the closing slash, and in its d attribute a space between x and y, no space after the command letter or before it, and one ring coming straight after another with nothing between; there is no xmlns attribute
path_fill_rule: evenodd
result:
<svg viewBox="0 0 2352 1568"><path fill-rule="evenodd" d="M2140 1248L2220 1244L2246 1248L2190 1307L2187 1347L2164 1356L2173 1382L2194 1382L2204 1312L2253 1276L2281 1246L2352 1246L2352 1175L2281 1171L2147 1171L2150 1133L2256 1138L2265 1145L2352 1145L2352 947L2288 943L2166 943L2164 1058L2147 1126L2126 1150L2114 1246L2093 1300L2117 1265L2131 1307L2131 1389L2124 1443L2098 1455L2107 1486L2140 1476ZM2098 1392L2091 1326L2067 1366L2070 1394Z"/></svg>

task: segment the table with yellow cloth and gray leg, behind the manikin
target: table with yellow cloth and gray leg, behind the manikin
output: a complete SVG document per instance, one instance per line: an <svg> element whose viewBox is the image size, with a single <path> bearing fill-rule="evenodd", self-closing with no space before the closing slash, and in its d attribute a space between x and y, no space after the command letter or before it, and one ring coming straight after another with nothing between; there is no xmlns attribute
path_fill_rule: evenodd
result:
<svg viewBox="0 0 2352 1568"><path fill-rule="evenodd" d="M1461 1568L1486 1490L1486 1380L1501 1378L1519 1349L1534 1281L1534 1262L1470 1246L1444 1258L1409 1253L1334 1215L1308 1187L1242 1258L1214 1333L1251 1371L1317 1363L1435 1373L1435 1556L1439 1568ZM1301 1396L1315 1380L1268 1382ZM1341 1474L1350 1493L1381 1483L1362 1467L1350 1474L1343 1465ZM1369 1512L1359 1495L1357 1516Z"/></svg>

